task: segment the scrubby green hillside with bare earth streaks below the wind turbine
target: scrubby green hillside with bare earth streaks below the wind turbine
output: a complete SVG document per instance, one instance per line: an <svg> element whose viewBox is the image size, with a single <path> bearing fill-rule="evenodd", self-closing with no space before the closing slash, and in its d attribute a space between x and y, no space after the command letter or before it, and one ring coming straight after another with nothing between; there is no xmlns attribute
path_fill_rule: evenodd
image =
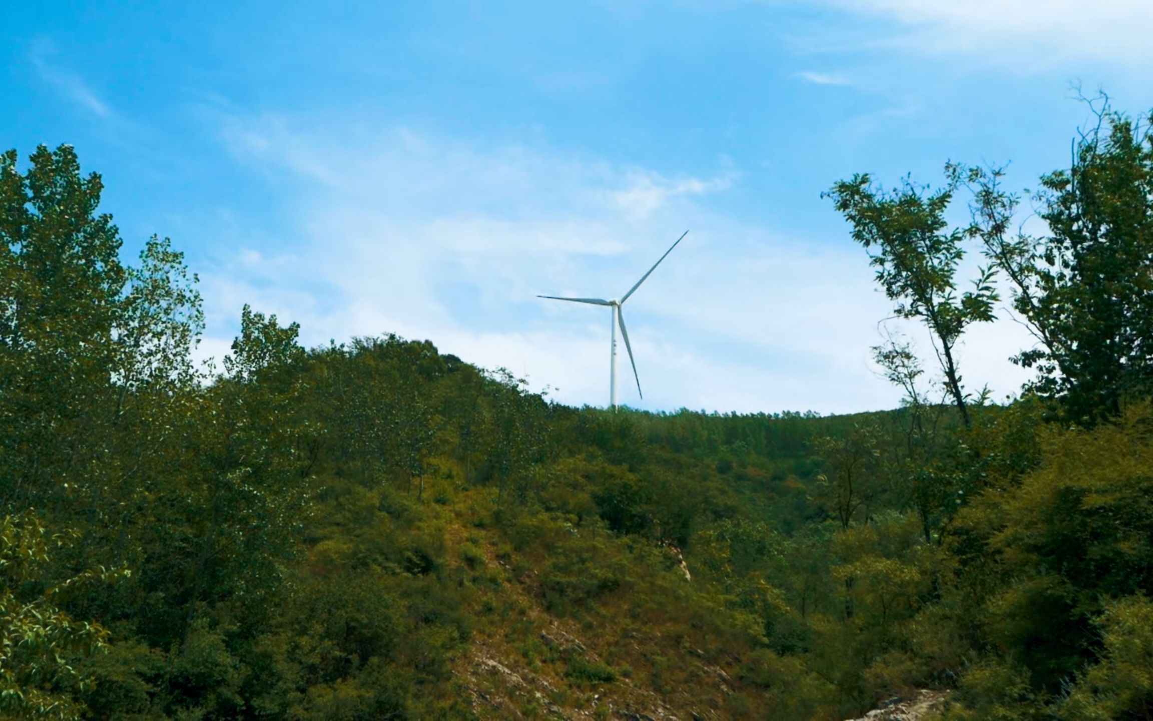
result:
<svg viewBox="0 0 1153 721"><path fill-rule="evenodd" d="M429 343L306 353L294 335L246 310L229 376L104 427L150 442L134 483L65 457L62 490L29 491L81 534L39 573L130 572L69 606L111 631L77 660L90 713L800 719L875 700L804 661L842 602L812 448L900 413L576 410Z"/></svg>

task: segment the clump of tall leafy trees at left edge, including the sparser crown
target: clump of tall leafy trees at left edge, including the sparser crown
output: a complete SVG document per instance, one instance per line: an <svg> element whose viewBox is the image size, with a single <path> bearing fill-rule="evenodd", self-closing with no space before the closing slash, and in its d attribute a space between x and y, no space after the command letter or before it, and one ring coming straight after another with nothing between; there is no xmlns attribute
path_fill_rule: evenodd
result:
<svg viewBox="0 0 1153 721"><path fill-rule="evenodd" d="M125 467L141 467L150 443L126 440L169 427L155 404L195 384L203 314L166 239L121 264L100 177L71 147L37 148L23 173L17 159L0 156L0 500L59 505L65 488L123 486L113 457L127 446L137 463ZM114 430L130 408L131 427Z"/></svg>

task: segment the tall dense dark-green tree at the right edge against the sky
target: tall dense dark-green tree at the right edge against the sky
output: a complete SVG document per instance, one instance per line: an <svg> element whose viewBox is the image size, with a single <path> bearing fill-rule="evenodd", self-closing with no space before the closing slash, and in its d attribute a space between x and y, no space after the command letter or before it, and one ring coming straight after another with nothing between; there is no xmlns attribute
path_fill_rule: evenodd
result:
<svg viewBox="0 0 1153 721"><path fill-rule="evenodd" d="M1038 341L1013 360L1037 370L1031 388L1092 425L1153 391L1153 133L1093 105L1098 123L1069 170L1041 178L1033 202L1047 233L1013 230L1019 203L1001 168L971 168L973 225L1004 271L1013 308Z"/></svg>

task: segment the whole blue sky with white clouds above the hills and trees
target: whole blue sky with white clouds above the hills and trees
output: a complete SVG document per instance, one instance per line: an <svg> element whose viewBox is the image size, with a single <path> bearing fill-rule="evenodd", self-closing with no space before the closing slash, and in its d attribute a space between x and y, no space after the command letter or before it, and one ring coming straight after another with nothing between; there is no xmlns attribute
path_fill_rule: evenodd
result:
<svg viewBox="0 0 1153 721"><path fill-rule="evenodd" d="M1071 83L1153 106L1150 37L1147 0L10 2L0 144L75 145L127 254L187 253L202 356L250 302L603 405L608 311L535 295L620 295L691 228L626 306L621 403L847 412L898 401L868 348L903 326L820 193L947 159L1033 187ZM970 385L1013 392L1026 344L971 333Z"/></svg>

